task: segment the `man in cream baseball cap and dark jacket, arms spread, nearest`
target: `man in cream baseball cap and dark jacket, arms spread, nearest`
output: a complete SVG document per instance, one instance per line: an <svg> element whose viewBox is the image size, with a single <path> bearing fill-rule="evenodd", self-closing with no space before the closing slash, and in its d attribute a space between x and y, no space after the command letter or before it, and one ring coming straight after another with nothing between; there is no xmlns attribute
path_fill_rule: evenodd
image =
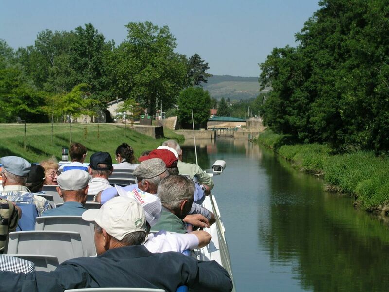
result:
<svg viewBox="0 0 389 292"><path fill-rule="evenodd" d="M61 175L62 176L62 175ZM77 288L138 287L176 291L229 292L228 272L215 261L198 261L180 253L150 253L143 208L134 200L117 197L100 210L90 209L83 219L95 222L99 256L61 263L52 272L15 274L0 272L2 291L64 291Z"/></svg>

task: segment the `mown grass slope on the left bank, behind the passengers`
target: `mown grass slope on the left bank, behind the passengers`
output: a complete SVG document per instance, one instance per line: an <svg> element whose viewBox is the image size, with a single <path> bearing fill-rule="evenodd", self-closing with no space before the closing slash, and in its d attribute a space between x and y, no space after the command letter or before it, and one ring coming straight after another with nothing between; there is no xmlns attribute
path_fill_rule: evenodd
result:
<svg viewBox="0 0 389 292"><path fill-rule="evenodd" d="M86 129L86 130L85 130ZM88 149L86 162L94 152L106 151L115 158L116 148L126 142L135 152L136 158L144 150L152 150L160 146L166 139L184 140L182 135L164 128L166 138L153 139L124 126L110 124L72 124L72 142L79 142ZM27 147L24 149L24 124L0 124L0 157L8 155L21 156L30 162L40 162L55 156L61 159L62 147L69 146L70 125L54 124L53 137L51 124L27 124ZM115 160L113 160L115 162Z"/></svg>

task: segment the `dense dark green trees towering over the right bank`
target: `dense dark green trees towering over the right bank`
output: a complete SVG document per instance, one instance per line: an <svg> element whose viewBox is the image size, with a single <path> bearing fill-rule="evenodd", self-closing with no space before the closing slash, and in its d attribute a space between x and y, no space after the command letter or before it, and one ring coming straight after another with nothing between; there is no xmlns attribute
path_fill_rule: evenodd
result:
<svg viewBox="0 0 389 292"><path fill-rule="evenodd" d="M389 150L387 0L322 0L296 48L275 48L260 83L267 125L304 143Z"/></svg>

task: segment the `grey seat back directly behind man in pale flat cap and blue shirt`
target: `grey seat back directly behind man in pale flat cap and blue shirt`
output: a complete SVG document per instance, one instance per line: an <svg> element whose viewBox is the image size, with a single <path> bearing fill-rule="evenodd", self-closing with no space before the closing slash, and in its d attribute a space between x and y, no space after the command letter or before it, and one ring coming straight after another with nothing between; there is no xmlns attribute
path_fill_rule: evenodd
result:
<svg viewBox="0 0 389 292"><path fill-rule="evenodd" d="M36 218L35 230L74 231L81 235L84 255L96 255L94 245L94 223L84 221L81 216L43 216Z"/></svg>

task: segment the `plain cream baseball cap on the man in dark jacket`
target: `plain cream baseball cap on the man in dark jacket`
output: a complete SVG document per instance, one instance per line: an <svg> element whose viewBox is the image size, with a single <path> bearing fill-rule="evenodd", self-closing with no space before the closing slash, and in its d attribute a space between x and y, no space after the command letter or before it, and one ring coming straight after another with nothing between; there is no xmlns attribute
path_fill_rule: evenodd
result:
<svg viewBox="0 0 389 292"><path fill-rule="evenodd" d="M82 214L85 221L94 221L106 232L122 240L127 234L142 231L147 235L146 216L133 198L115 197L100 209L89 209Z"/></svg>

